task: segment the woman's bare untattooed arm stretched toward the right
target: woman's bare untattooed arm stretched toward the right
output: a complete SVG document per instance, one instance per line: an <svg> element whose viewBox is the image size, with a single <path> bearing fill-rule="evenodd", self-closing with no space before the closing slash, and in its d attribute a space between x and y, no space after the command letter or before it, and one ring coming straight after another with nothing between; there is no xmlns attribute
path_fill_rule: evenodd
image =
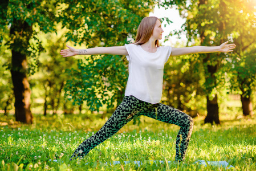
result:
<svg viewBox="0 0 256 171"><path fill-rule="evenodd" d="M181 47L172 48L172 54L170 56L180 56L188 54L206 54L213 52L232 52L235 48L235 44L222 43L220 46L193 46L193 47Z"/></svg>

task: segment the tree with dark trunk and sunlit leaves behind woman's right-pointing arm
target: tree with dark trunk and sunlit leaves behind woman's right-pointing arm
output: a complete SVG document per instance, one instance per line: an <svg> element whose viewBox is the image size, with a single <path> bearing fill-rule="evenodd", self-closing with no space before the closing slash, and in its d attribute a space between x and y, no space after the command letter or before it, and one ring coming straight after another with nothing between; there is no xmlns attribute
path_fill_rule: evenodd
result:
<svg viewBox="0 0 256 171"><path fill-rule="evenodd" d="M227 39L233 42L231 38L237 35L235 34L236 28L243 29L246 25L246 22L239 23L238 21L248 19L248 17L244 18L245 16L239 15L239 11L248 7L250 2L252 1L241 3L241 1L229 0L200 0L191 1L189 5L185 2L181 3L179 5L180 13L187 19L182 28L187 34L188 44L218 46ZM249 22L250 19L247 21ZM180 34L180 32L176 33ZM246 32L240 33L247 34ZM217 95L225 84L225 80L221 79L222 77L219 75L221 74L220 68L225 67L226 58L231 58L231 54L201 55L201 62L205 67L204 88L208 109L205 123L220 123Z"/></svg>

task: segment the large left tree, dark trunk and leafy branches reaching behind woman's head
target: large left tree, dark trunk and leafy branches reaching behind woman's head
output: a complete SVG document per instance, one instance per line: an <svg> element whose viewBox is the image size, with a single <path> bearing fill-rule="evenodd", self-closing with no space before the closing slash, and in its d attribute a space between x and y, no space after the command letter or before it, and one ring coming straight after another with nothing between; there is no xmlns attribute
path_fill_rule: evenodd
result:
<svg viewBox="0 0 256 171"><path fill-rule="evenodd" d="M154 5L155 1L11 1L7 25L11 25L9 44L12 52L11 76L17 121L32 123L31 91L27 74L33 73L37 64L34 63L33 67L27 67L27 58L36 58L38 52L43 50L36 35L39 31L55 31L55 23L61 22L63 27L71 30L67 34L67 41L71 40L79 44L86 42L87 47L119 46L127 42L127 37L135 35L138 23L149 11L153 10ZM30 40L34 40L34 46L31 45ZM96 67L101 68L97 68L99 72L95 72L95 79L91 77L88 80L80 80L79 85L84 87L78 86L78 89L68 90L67 96L76 94L79 98L74 99L78 99L79 103L82 103L82 100L91 100L91 106L96 103L97 107L106 102L106 99L100 99L97 95L108 94L111 97L107 101L111 102L114 99L120 100L127 72L124 64L117 62L120 57L111 56L111 60L116 63L109 62L109 57L104 56L101 60L100 56L91 56L85 64L80 60L79 71L86 71L82 73L83 75L91 72L87 72L87 66L97 64ZM109 65L106 66L106 64ZM72 71L75 72L71 70L70 73ZM111 76L108 77L108 75ZM78 80L83 78L79 76L76 77ZM95 91L95 85L100 91ZM68 86L75 85L71 81ZM91 96L80 96L84 94L84 90Z"/></svg>

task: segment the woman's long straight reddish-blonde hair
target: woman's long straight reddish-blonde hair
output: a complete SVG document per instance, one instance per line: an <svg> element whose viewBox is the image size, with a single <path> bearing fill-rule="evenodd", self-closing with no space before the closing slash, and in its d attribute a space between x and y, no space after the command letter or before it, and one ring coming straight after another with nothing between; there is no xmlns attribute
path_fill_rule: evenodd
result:
<svg viewBox="0 0 256 171"><path fill-rule="evenodd" d="M142 19L137 30L134 44L144 44L148 42L149 38L151 38L151 35L153 34L157 19L160 21L157 17L145 17ZM156 40L155 45L157 47L160 46L159 40Z"/></svg>

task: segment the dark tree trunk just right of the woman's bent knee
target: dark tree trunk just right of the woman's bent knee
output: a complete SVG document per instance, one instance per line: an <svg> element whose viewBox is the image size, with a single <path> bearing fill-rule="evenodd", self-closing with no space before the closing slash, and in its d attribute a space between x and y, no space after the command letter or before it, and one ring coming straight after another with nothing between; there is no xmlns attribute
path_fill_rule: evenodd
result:
<svg viewBox="0 0 256 171"><path fill-rule="evenodd" d="M209 99L209 96L206 96L207 99L207 116L205 117L205 124L211 123L220 124L219 120L219 107L218 107L218 98L217 95L213 100Z"/></svg>

